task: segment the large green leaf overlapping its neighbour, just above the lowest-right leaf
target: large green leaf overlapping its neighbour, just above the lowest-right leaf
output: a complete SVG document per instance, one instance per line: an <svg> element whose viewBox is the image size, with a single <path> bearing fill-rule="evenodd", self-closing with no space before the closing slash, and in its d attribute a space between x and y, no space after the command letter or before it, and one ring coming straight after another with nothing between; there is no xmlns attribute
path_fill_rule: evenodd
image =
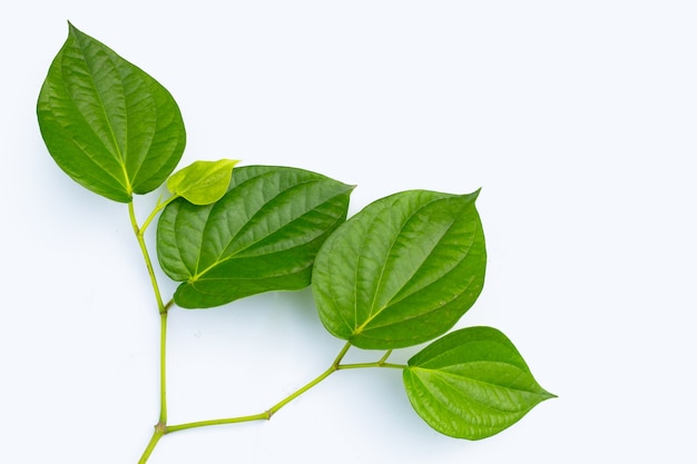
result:
<svg viewBox="0 0 697 464"><path fill-rule="evenodd" d="M484 282L477 196L403 191L342 225L313 270L327 330L357 347L392 349L450 329Z"/></svg>

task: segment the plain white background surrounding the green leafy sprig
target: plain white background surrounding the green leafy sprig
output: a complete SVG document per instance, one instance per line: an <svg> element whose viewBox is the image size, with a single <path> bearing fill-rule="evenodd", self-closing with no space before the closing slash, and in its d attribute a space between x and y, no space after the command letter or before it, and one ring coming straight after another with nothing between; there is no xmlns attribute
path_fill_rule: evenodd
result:
<svg viewBox="0 0 697 464"><path fill-rule="evenodd" d="M271 422L168 435L151 464L697 462L694 2L0 10L0 462L136 463L158 414L158 316L127 208L73 184L38 130L67 20L171 91L181 166L315 170L359 185L352 214L482 187L487 284L460 326L503 330L559 395L465 442L422 423L399 372L341 372ZM308 292L175 308L169 422L259 413L341 346Z"/></svg>

